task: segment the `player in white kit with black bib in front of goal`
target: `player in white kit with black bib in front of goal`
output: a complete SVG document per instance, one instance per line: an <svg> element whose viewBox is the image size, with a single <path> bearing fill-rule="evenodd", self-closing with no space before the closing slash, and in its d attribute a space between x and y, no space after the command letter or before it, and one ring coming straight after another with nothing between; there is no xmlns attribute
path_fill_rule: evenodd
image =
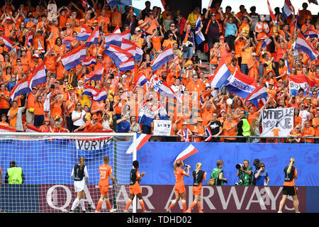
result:
<svg viewBox="0 0 319 227"><path fill-rule="evenodd" d="M85 212L86 209L84 206L84 187L85 183L87 184L89 182L89 174L87 172L87 167L84 165L84 157L80 157L79 164L74 165L71 177L74 179L74 190L75 192L77 192L77 199L74 199L70 213L73 213L74 209L79 204L81 204L82 212Z"/></svg>

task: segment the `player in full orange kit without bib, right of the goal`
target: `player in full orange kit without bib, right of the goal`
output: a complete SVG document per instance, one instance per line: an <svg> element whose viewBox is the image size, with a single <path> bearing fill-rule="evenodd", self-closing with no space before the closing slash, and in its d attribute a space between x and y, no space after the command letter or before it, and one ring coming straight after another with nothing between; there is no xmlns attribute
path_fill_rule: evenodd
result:
<svg viewBox="0 0 319 227"><path fill-rule="evenodd" d="M183 206L183 212L186 212L186 189L184 185L184 179L183 177L189 177L189 169L191 168L190 165L186 165L185 169L181 169L181 167L184 167L184 162L182 160L177 160L175 162L174 166L174 175L175 175L175 194L176 198L172 201L172 203L169 205L169 208L166 210L167 213L171 213L171 209L173 206L181 199L181 206ZM187 172L185 170L187 169Z"/></svg>

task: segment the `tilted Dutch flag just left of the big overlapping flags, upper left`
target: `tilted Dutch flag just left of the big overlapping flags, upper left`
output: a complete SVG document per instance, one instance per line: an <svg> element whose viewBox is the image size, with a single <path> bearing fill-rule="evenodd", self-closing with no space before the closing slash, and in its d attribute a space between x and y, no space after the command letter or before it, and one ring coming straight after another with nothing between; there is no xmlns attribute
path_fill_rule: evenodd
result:
<svg viewBox="0 0 319 227"><path fill-rule="evenodd" d="M86 57L85 43L77 48L74 48L70 52L61 56L61 62L66 70L72 69L81 64L81 61Z"/></svg>

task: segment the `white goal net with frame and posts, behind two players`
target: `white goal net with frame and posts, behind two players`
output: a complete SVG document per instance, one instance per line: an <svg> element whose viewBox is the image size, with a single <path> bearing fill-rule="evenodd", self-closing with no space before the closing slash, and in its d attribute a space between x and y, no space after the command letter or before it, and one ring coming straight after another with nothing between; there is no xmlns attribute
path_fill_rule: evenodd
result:
<svg viewBox="0 0 319 227"><path fill-rule="evenodd" d="M86 212L96 211L99 166L105 156L117 182L115 187L109 179L109 201L116 212L123 212L136 160L135 141L134 133L0 133L0 212L69 212L77 197L72 169L80 157L89 174ZM109 212L105 201L100 211ZM74 212L82 212L81 206Z"/></svg>

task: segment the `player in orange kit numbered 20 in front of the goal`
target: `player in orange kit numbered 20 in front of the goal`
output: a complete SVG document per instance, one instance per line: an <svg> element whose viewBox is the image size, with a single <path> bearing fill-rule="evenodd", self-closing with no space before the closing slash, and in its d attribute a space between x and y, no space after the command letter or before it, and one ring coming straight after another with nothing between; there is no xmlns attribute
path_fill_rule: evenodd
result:
<svg viewBox="0 0 319 227"><path fill-rule="evenodd" d="M110 209L111 213L116 211L116 209L112 208L110 201L108 200L108 184L109 184L108 177L111 178L114 184L114 187L116 187L116 181L112 174L112 167L108 165L109 161L110 159L108 157L104 157L103 165L99 166L99 173L100 173L99 187L101 192L101 198L99 199L99 202L96 206L96 212L100 211L104 200L106 202L106 206L108 207L108 209Z"/></svg>

